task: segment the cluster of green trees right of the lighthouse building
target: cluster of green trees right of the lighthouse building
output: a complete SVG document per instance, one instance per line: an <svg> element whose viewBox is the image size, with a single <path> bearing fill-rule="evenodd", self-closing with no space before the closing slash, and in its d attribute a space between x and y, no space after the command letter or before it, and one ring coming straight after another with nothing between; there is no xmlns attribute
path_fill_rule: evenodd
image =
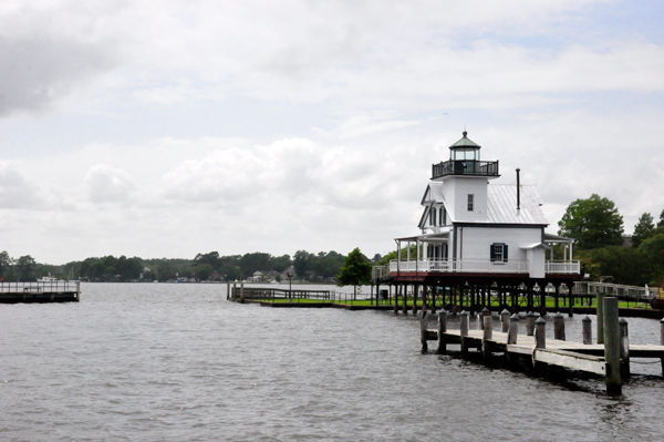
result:
<svg viewBox="0 0 664 442"><path fill-rule="evenodd" d="M630 241L615 204L593 194L572 202L558 227L559 235L575 239L574 257L590 280L634 286L664 282L664 210L657 224L650 213L642 214ZM559 246L556 256L562 254Z"/></svg>

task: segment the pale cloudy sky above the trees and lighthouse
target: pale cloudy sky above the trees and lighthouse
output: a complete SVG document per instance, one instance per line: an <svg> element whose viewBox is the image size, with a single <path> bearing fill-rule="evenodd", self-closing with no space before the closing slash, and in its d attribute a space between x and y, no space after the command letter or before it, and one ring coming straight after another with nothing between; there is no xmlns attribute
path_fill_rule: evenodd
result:
<svg viewBox="0 0 664 442"><path fill-rule="evenodd" d="M0 250L394 249L468 137L550 223L664 209L664 3L2 0Z"/></svg>

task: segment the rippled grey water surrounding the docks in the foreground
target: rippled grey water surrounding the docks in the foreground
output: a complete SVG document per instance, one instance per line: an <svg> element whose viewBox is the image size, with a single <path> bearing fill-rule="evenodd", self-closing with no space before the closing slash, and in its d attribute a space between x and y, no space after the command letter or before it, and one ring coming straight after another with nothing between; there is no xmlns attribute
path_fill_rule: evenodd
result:
<svg viewBox="0 0 664 442"><path fill-rule="evenodd" d="M658 364L634 363L610 398L601 379L423 354L411 317L232 304L225 285L82 289L80 304L0 305L0 440L664 439ZM630 333L657 342L658 322Z"/></svg>

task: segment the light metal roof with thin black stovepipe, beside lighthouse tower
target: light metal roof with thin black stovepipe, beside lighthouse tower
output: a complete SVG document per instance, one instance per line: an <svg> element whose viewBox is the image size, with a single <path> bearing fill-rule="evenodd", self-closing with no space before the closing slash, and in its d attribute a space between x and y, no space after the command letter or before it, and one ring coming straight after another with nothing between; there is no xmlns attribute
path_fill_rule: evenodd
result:
<svg viewBox="0 0 664 442"><path fill-rule="evenodd" d="M521 186L520 209L517 210L517 186L487 186L487 223L549 225L542 212L542 201L535 186Z"/></svg>

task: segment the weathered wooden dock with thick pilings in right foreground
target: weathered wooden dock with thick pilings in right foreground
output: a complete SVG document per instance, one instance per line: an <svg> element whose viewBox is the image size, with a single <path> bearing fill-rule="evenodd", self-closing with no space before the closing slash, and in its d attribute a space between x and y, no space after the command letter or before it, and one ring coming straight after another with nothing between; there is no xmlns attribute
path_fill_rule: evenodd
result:
<svg viewBox="0 0 664 442"><path fill-rule="evenodd" d="M664 373L664 320L661 321L662 345L634 345L629 341L627 321L618 317L618 299L602 299L603 308L598 316L598 343L592 343L592 321L583 319L583 342L568 341L564 333L564 318L552 317L554 339L547 339L548 321L543 317L529 313L526 319L526 333L519 332L521 318L510 316L507 310L500 315L501 331L496 331L491 313L485 309L478 317L478 329L468 329L469 313L459 315L459 329L447 329L447 312L437 315L423 312L421 340L424 351L427 341L438 342L438 353L447 352L448 345L460 346L463 357L475 349L484 363L491 363L495 353L502 353L508 368L523 362L535 372L547 373L549 366L579 370L605 377L610 394L622 393L622 384L630 377L630 358L658 359ZM433 321L436 319L436 322ZM435 325L435 327L432 327Z"/></svg>

